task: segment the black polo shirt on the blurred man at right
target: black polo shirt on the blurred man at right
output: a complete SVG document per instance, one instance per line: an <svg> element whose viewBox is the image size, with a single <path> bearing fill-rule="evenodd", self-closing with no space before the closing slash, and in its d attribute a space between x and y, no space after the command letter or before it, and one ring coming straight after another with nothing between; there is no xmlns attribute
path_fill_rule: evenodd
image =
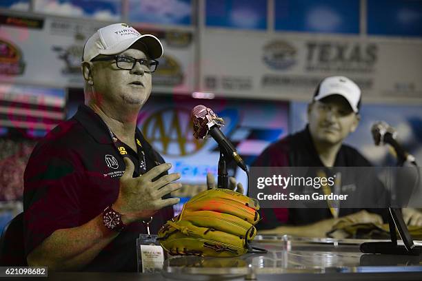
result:
<svg viewBox="0 0 422 281"><path fill-rule="evenodd" d="M325 167L312 142L308 126L301 132L292 134L272 143L254 160L254 167ZM341 145L334 161L334 167L370 167L370 162L356 149ZM374 200L387 200L388 194L377 179L373 178L372 194ZM347 216L361 209L340 208L339 216ZM380 214L387 220L384 209L367 209ZM319 220L332 218L328 205L326 208L263 208L260 210L262 220L259 229L272 229L280 225L308 225Z"/></svg>

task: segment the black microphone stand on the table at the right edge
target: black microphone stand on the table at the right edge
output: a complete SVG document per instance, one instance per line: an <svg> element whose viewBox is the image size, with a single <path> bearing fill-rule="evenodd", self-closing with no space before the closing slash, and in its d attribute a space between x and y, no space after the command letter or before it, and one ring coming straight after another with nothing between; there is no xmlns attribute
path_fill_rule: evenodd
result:
<svg viewBox="0 0 422 281"><path fill-rule="evenodd" d="M394 147L395 148L395 147ZM403 167L405 159L397 158L397 166ZM416 168L416 162L414 163ZM383 253L388 255L410 255L419 256L422 253L422 247L415 246L406 226L401 209L388 207L388 226L390 227L390 239L388 242L363 242L360 245L362 253ZM397 244L396 229L399 231L404 245Z"/></svg>

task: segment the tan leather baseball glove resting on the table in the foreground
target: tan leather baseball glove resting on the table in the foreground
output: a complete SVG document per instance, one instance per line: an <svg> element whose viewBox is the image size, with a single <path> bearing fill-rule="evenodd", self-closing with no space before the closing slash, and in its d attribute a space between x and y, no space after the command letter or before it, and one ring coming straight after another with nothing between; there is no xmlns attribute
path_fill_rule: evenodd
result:
<svg viewBox="0 0 422 281"><path fill-rule="evenodd" d="M171 255L241 256L252 251L249 242L257 234L258 210L257 200L236 191L208 189L163 225L158 240Z"/></svg>

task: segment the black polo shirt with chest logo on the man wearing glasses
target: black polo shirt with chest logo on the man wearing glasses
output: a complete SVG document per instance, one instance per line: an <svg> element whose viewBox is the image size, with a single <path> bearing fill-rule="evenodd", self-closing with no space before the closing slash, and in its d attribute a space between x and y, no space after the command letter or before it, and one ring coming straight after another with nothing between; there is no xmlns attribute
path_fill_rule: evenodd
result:
<svg viewBox="0 0 422 281"><path fill-rule="evenodd" d="M139 176L145 166L140 161L142 150L146 170L164 163L139 129L134 138L138 152L114 142L106 123L81 105L77 114L39 141L24 175L26 255L57 229L83 225L117 200L119 178L125 171L123 156L134 163L133 176ZM150 225L152 233L173 215L172 207L157 212ZM137 271L139 233L146 233L142 222L128 225L83 270Z"/></svg>

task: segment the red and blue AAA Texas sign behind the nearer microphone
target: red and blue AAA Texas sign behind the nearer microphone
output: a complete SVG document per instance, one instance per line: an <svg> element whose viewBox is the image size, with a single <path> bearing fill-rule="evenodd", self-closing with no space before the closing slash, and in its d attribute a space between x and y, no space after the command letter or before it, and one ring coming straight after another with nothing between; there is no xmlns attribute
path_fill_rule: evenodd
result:
<svg viewBox="0 0 422 281"><path fill-rule="evenodd" d="M181 173L185 189L205 189L207 172L212 172L217 180L217 143L212 138L198 141L192 135L190 112L199 104L210 107L224 119L221 131L237 147L247 165L272 141L288 134L288 103L283 101L205 100L186 96L150 98L139 115L138 126L165 160L172 163L170 171ZM248 186L241 169L231 165L229 175L236 176L244 187Z"/></svg>

